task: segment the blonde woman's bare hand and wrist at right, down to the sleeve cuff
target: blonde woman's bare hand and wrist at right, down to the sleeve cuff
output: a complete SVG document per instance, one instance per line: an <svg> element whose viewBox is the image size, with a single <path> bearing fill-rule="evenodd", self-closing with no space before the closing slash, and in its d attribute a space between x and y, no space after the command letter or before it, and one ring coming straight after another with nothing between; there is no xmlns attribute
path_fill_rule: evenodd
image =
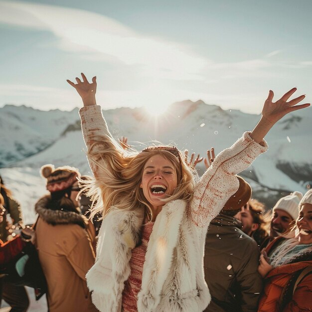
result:
<svg viewBox="0 0 312 312"><path fill-rule="evenodd" d="M305 95L301 95L298 98L288 101L296 90L297 88L289 90L276 102L273 102L274 93L270 90L269 96L262 109L261 120L250 133L250 137L255 140L255 142L260 143L274 124L288 113L310 106L310 103L296 105L306 97Z"/></svg>

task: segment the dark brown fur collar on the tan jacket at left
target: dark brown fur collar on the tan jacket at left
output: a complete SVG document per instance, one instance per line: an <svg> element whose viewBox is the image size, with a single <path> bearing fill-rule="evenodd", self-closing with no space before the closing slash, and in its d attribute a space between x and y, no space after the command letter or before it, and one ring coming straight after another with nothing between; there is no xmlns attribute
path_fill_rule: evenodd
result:
<svg viewBox="0 0 312 312"><path fill-rule="evenodd" d="M63 210L52 210L47 208L51 201L51 195L45 195L41 197L35 204L35 211L39 217L45 222L51 225L57 224L78 224L82 228L86 228L88 219L79 214L79 208L77 212L63 211Z"/></svg>

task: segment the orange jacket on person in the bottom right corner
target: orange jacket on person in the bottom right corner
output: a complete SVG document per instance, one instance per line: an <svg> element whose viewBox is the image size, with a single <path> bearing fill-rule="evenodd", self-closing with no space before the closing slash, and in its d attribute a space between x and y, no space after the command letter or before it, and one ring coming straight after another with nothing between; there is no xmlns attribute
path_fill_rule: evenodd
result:
<svg viewBox="0 0 312 312"><path fill-rule="evenodd" d="M281 237L278 237L271 242L266 248L266 251L270 251L272 246L280 239ZM312 254L310 254L310 256L310 259L312 259ZM298 284L291 301L282 311L279 307L280 296L284 287L287 286L296 272L308 266L312 266L312 260L282 265L270 271L265 278L265 287L259 302L258 312L312 311L312 274L306 276L306 278Z"/></svg>

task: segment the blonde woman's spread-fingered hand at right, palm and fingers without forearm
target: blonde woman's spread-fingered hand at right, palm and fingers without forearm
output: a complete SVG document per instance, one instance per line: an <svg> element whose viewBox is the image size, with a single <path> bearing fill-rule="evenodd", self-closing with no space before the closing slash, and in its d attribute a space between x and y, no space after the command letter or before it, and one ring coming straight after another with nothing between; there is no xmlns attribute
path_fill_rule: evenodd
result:
<svg viewBox="0 0 312 312"><path fill-rule="evenodd" d="M301 102L306 97L306 95L301 95L298 98L287 102L296 91L297 88L293 88L285 93L278 101L273 102L274 93L272 90L270 90L269 96L265 101L262 109L262 116L266 118L270 123L275 124L286 114L310 106L309 103L295 106L296 104Z"/></svg>

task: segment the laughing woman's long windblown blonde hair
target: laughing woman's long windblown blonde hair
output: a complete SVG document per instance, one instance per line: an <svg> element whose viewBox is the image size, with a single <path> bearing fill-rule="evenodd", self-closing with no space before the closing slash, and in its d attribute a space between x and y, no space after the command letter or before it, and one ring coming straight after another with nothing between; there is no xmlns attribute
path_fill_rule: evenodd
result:
<svg viewBox="0 0 312 312"><path fill-rule="evenodd" d="M88 151L88 157L103 174L80 181L84 184L83 191L86 191L93 201L90 218L97 213L101 213L101 218L104 218L111 209L143 209L151 220L153 211L140 184L146 162L155 155L168 159L177 175L177 187L169 198L163 199L164 204L174 199L189 201L192 198L195 186L193 173L178 150L178 157L169 152L172 147L168 147L168 150L165 147L156 147L140 153L128 153L118 149L117 142L109 136L92 140L94 143Z"/></svg>

